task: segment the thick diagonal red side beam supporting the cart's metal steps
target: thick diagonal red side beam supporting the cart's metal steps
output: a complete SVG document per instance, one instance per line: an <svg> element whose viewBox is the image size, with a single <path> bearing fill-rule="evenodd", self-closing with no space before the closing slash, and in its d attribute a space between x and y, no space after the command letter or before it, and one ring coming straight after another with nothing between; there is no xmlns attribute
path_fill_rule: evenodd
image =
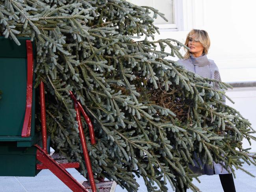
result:
<svg viewBox="0 0 256 192"><path fill-rule="evenodd" d="M42 162L54 175L56 175L65 185L75 192L88 192L72 175L50 157L40 146L37 147L37 160ZM96 191L95 191L96 192Z"/></svg>

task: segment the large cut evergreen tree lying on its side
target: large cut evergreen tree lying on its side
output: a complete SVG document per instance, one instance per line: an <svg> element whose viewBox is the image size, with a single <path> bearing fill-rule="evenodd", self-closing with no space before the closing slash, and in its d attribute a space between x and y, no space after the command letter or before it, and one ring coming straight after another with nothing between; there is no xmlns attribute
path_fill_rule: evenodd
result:
<svg viewBox="0 0 256 192"><path fill-rule="evenodd" d="M134 175L148 191L168 191L167 182L197 191L193 155L243 170L244 162L255 161L242 140L255 138L250 123L223 103L224 92L208 83L214 80L166 59L181 57L184 45L154 41L157 16L163 17L124 0L0 0L0 34L17 44L18 36L36 42L36 86L46 85L51 146L79 161L83 175L69 90L94 123L97 144L91 145L83 122L94 173L128 191L139 186Z"/></svg>

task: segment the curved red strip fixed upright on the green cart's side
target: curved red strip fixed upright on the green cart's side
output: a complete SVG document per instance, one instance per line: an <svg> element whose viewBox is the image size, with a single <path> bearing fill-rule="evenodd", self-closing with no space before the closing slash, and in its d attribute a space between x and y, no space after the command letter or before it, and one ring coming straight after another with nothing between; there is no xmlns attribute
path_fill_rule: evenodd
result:
<svg viewBox="0 0 256 192"><path fill-rule="evenodd" d="M27 48L27 92L26 111L22 127L21 137L29 137L31 131L32 91L33 91L33 50L30 40L26 40Z"/></svg>

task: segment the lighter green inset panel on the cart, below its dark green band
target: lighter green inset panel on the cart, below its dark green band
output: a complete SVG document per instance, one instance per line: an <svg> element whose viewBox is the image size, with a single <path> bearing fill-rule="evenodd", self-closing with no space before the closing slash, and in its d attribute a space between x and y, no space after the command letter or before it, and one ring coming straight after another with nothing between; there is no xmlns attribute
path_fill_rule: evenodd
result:
<svg viewBox="0 0 256 192"><path fill-rule="evenodd" d="M0 135L20 135L26 109L26 60L0 58Z"/></svg>

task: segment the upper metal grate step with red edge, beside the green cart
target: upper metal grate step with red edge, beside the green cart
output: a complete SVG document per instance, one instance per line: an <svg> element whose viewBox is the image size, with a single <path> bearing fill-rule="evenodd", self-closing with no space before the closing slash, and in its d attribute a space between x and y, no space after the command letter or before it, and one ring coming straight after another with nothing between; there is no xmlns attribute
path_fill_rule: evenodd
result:
<svg viewBox="0 0 256 192"><path fill-rule="evenodd" d="M67 158L61 153L51 152L50 157L52 157L52 159L54 159L56 162L58 162L58 164L61 164L66 169L80 167L79 162L69 162ZM37 164L37 169L47 169L47 167L43 165L41 162L39 162L39 164Z"/></svg>

